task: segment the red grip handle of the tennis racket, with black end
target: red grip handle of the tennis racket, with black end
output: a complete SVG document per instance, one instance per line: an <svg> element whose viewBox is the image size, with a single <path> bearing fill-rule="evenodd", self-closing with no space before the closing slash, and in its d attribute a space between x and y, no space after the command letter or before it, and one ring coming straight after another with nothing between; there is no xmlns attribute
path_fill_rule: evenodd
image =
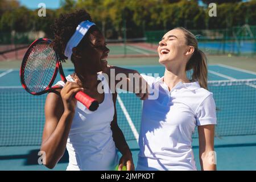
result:
<svg viewBox="0 0 256 182"><path fill-rule="evenodd" d="M94 111L98 109L98 101L84 92L77 92L75 95L77 101L84 104L90 111Z"/></svg>

